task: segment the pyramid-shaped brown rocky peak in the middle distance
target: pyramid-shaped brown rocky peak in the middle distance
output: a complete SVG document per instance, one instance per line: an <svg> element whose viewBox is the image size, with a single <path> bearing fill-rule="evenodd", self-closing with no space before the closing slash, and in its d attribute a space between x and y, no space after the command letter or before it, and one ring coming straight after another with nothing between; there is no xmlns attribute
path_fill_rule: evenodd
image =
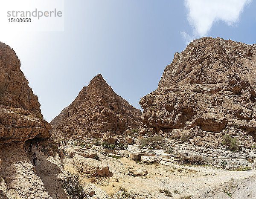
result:
<svg viewBox="0 0 256 199"><path fill-rule="evenodd" d="M123 133L128 128L139 127L141 114L99 74L50 124L54 132L102 137L104 132Z"/></svg>

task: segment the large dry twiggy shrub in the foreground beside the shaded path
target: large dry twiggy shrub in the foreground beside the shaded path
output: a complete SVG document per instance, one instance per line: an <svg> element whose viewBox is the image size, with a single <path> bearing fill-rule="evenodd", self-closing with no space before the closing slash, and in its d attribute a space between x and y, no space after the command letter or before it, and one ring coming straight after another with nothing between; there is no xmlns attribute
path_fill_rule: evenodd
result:
<svg viewBox="0 0 256 199"><path fill-rule="evenodd" d="M83 186L79 184L80 179L78 175L65 172L61 182L63 187L67 190L70 199L79 199L84 196Z"/></svg>

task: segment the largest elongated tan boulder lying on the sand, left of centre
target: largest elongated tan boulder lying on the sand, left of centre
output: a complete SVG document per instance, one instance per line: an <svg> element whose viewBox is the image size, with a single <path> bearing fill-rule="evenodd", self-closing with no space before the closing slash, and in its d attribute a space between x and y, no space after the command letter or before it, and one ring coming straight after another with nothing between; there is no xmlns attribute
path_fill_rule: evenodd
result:
<svg viewBox="0 0 256 199"><path fill-rule="evenodd" d="M73 162L76 167L92 176L107 176L109 174L108 164L104 164L96 159L84 158L78 154L73 156Z"/></svg>

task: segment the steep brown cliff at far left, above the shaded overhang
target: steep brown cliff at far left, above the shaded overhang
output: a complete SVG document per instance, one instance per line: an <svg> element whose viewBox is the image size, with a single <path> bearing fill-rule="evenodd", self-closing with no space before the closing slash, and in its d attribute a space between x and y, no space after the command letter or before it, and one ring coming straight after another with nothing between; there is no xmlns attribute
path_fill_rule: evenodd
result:
<svg viewBox="0 0 256 199"><path fill-rule="evenodd" d="M15 52L0 42L0 144L48 138L51 125L43 120Z"/></svg>

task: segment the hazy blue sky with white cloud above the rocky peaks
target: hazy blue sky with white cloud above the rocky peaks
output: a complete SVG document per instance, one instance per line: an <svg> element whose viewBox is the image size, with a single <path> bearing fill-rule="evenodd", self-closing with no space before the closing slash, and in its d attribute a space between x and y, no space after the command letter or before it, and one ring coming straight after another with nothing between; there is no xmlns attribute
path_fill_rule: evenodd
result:
<svg viewBox="0 0 256 199"><path fill-rule="evenodd" d="M141 109L192 40L256 43L255 10L256 0L65 0L64 31L0 26L0 41L15 50L50 122L97 74Z"/></svg>

